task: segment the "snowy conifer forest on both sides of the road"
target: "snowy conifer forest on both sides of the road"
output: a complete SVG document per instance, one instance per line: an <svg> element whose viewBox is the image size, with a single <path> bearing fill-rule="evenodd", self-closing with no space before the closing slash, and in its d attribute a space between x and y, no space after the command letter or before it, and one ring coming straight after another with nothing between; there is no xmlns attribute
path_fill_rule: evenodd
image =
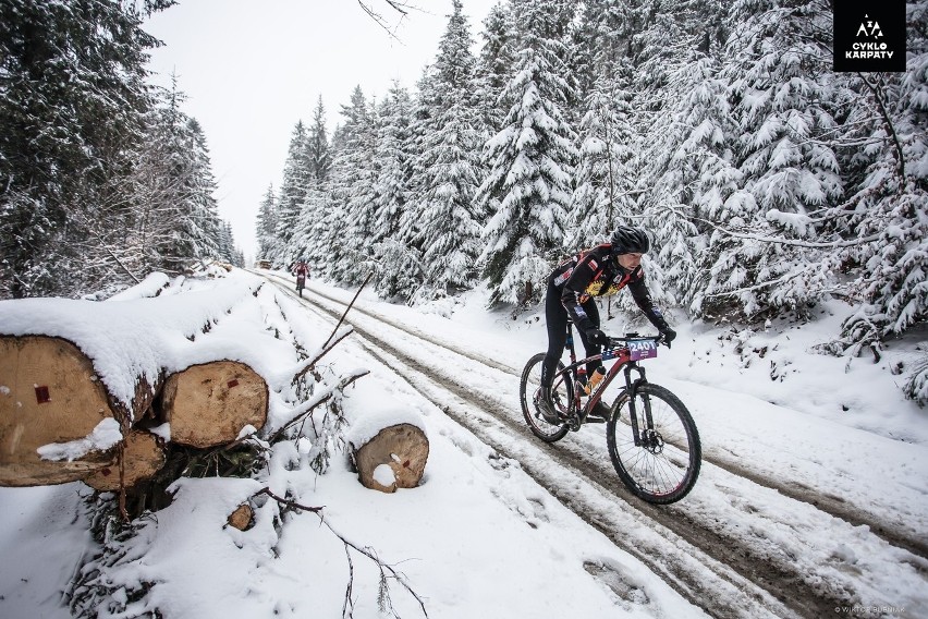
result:
<svg viewBox="0 0 928 619"><path fill-rule="evenodd" d="M171 4L0 0L0 296L242 264L183 93L145 83L141 24ZM838 298L821 352L924 341L928 4L906 3L899 73L833 71L832 4L501 0L477 40L453 0L414 88L358 85L295 124L258 257L346 286L373 270L398 302L486 283L530 306L627 223L681 316L805 319ZM923 359L905 389L926 400Z"/></svg>

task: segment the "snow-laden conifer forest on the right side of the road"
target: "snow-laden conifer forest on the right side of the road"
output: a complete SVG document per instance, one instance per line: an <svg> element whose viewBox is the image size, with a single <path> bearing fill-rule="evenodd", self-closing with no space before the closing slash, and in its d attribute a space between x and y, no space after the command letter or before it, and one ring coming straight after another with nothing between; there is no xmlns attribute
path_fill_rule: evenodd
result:
<svg viewBox="0 0 928 619"><path fill-rule="evenodd" d="M259 253L349 286L373 270L412 304L486 282L532 305L557 262L634 224L662 305L764 321L840 298L821 352L878 355L928 311L928 4L906 4L904 73L834 72L832 19L827 0L505 0L475 41L454 0L415 90L359 85L331 136L321 99L296 124ZM928 352L914 376L925 399Z"/></svg>

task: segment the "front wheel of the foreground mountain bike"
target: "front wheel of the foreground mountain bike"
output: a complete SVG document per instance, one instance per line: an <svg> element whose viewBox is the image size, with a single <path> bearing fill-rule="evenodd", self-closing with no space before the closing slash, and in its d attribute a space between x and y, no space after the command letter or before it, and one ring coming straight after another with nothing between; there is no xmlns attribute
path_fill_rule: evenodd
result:
<svg viewBox="0 0 928 619"><path fill-rule="evenodd" d="M628 393L622 393L606 425L612 465L622 483L638 498L658 505L679 501L696 485L703 458L693 416L668 389L642 384L635 390L642 440L635 445L630 401ZM650 427L647 418L651 420Z"/></svg>

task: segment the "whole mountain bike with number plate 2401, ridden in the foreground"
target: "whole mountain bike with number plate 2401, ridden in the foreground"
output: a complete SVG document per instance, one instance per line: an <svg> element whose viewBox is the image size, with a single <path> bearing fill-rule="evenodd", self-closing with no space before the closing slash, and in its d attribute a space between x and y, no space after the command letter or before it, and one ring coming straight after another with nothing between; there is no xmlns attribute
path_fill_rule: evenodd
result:
<svg viewBox="0 0 928 619"><path fill-rule="evenodd" d="M572 323L567 323L570 365L558 362L551 385L551 401L559 421L549 423L536 403L541 392L541 365L545 353L528 360L522 372L520 398L522 413L533 434L546 442L555 442L584 424L602 420L589 413L602 399L606 389L622 372L625 385L606 418L606 442L609 458L619 478L638 498L659 505L679 501L693 489L699 476L701 447L699 433L689 411L670 390L648 383L638 362L657 356L662 336L628 333L610 338L601 354L581 361L574 352ZM669 347L669 344L667 344ZM579 368L596 361L613 361L602 380L586 397ZM637 373L632 378L632 373Z"/></svg>

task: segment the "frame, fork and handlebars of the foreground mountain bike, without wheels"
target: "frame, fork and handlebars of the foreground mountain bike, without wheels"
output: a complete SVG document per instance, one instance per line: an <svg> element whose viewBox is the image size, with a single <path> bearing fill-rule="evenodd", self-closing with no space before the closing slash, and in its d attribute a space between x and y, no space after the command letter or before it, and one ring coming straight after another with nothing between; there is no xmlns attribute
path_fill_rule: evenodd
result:
<svg viewBox="0 0 928 619"><path fill-rule="evenodd" d="M635 410L635 391L637 390L639 385L647 383L648 379L645 374L645 368L638 365L638 360L632 359L632 350L630 349L630 347L623 347L621 345L621 343L618 342L624 341L627 344L630 341L651 341L656 345L659 339L660 336L638 337L634 335L624 338L613 338L607 350L602 351L599 354L595 354L593 356L588 356L586 359L577 361L576 351L574 350L573 323L567 323L567 341L564 348L570 351L571 363L563 369L558 371L555 377L570 374L573 378L574 404L572 409L573 412L579 418L581 424L586 422L586 417L589 414L589 411L591 411L593 406L595 406L596 403L599 402L599 400L602 398L602 395L606 392L606 389L609 387L609 385L612 384L612 380L615 378L619 372L624 369L625 386L622 388L620 398L625 395L627 395L628 397L628 415L631 417L628 421L632 424L632 434L635 440L635 446L642 446L642 433L638 427L637 411ZM615 342L616 345L611 345L613 342ZM615 360L615 362L606 372L606 376L602 377L602 380L599 381L599 385L597 385L596 388L589 393L589 400L587 400L586 405L583 406L583 409L579 409L581 390L583 389L583 387L581 386L578 380L577 369L582 365L586 365L587 363L596 361L603 362L613 359ZM638 373L638 377L635 380L632 380L632 371ZM647 402L645 404L645 427L652 428L654 422L651 420L650 406L647 405Z"/></svg>

